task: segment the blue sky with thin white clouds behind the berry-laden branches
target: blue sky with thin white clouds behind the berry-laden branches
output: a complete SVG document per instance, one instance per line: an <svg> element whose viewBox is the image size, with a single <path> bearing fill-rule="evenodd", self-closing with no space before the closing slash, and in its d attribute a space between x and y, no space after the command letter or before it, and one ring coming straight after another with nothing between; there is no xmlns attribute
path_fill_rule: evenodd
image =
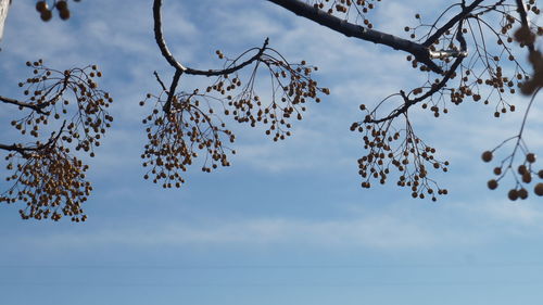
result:
<svg viewBox="0 0 543 305"><path fill-rule="evenodd" d="M153 71L173 71L152 36L151 1L81 1L73 17L39 21L31 1L14 1L0 52L0 92L20 98L27 60L67 68L97 63L100 86L115 98L115 124L89 178L85 224L23 221L17 204L0 205L1 304L540 304L543 207L491 192L492 167L480 153L515 135L521 111L501 119L493 107L465 103L415 127L451 162L437 179L438 203L412 200L392 181L359 188L358 104L379 101L424 77L405 54L339 36L266 1L166 1L164 29L188 66L218 66L265 37L288 59L319 66L331 96L275 143L263 130L233 126L238 154L213 174L189 170L181 189L141 177L144 142L138 102L159 92ZM428 13L447 1L424 1ZM421 3L421 1L417 1ZM377 28L403 34L416 10L383 1ZM182 89L205 84L191 78ZM512 98L519 110L528 100ZM2 110L0 142L13 141ZM530 148L543 120L535 104ZM3 167L2 167L3 168ZM1 187L5 187L2 182Z"/></svg>

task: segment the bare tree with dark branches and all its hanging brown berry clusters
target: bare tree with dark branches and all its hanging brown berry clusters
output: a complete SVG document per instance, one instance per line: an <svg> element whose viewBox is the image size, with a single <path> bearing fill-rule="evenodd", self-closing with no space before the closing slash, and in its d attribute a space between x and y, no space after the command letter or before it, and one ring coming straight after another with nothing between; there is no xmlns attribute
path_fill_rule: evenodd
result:
<svg viewBox="0 0 543 305"><path fill-rule="evenodd" d="M359 106L362 118L352 124L351 130L362 134L366 150L358 160L363 188L369 188L374 180L386 183L389 177L395 177L396 185L409 189L414 198L435 201L447 190L431 178L431 171L446 171L450 164L417 136L409 116L413 107L420 105L438 117L446 114L451 104L472 100L493 105L498 117L515 111L508 102L510 94L520 88L525 94L535 97L542 84L543 61L534 40L543 29L531 22L530 15L540 13L533 0L457 1L430 18L416 14L414 24L404 28L408 38L374 27L369 12L378 4L386 5L377 0L268 1L338 34L403 51L417 73L427 75L416 88L399 90L372 106ZM67 20L67 1L52 2L51 8ZM180 187L184 171L197 160L207 173L229 166L228 155L236 153L229 147L235 135L225 117L252 127L265 126L274 141L283 140L291 136L292 118L302 119L308 103L318 103L330 93L312 78L316 66L305 61L290 62L270 47L267 38L232 58L217 50L224 61L219 68L187 66L169 51L164 39L162 2L153 1L154 36L173 73L166 84L155 72L160 91L147 94L140 102L142 106L151 104L143 119L149 140L141 155L149 169L146 179L164 188ZM53 15L47 1L38 1L36 9L46 22ZM533 76L518 60L525 55L521 48L528 49ZM98 89L96 78L101 73L94 65L64 72L49 68L42 61L27 65L34 76L20 84L26 98L0 97L0 101L26 112L12 125L37 140L0 144L8 152L8 180L13 182L0 201L25 202L23 218L59 220L68 215L75 221L85 220L81 204L92 188L84 178L87 166L72 151L94 155L101 135L113 119L106 112L112 99ZM260 71L267 72L270 94L256 92L255 79L263 75ZM184 78L198 76L210 79L209 85L178 89ZM530 105L532 102L533 98ZM391 106L392 111L387 111ZM39 127L51 122L58 123L46 128L50 136L41 138L45 132ZM516 141L513 153L494 168L497 177L489 181L489 188L495 189L503 177L513 175L516 185L508 194L512 200L528 196L526 186L533 175L543 178L543 171L532 166L535 154L522 139L525 124L526 115L518 135L482 155L490 162L495 150ZM519 154L523 156L520 161ZM543 183L538 183L534 192L543 195Z"/></svg>

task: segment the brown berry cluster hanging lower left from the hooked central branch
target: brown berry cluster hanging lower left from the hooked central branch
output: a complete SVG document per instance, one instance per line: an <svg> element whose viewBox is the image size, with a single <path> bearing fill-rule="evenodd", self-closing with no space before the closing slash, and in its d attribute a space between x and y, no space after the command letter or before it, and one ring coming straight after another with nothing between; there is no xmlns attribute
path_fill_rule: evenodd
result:
<svg viewBox="0 0 543 305"><path fill-rule="evenodd" d="M205 155L202 170L211 173L220 166L229 166L227 152L236 151L225 145L233 142L233 134L210 107L210 101L198 90L174 97L169 111L164 111L164 96L148 94L146 102L154 101L152 113L143 119L149 143L141 157L149 167L144 179L162 183L163 188L180 188L185 182L181 173L200 153Z"/></svg>

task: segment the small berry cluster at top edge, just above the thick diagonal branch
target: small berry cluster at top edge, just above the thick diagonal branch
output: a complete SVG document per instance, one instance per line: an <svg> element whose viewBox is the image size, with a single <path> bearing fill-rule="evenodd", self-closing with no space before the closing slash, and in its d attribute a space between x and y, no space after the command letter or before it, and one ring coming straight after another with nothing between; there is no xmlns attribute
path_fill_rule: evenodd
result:
<svg viewBox="0 0 543 305"><path fill-rule="evenodd" d="M312 0L308 1L315 9L328 12L328 14L337 14L340 17L349 20L350 15L355 16L356 22L362 22L368 28L374 25L366 17L366 14L375 9L376 3L381 0Z"/></svg>

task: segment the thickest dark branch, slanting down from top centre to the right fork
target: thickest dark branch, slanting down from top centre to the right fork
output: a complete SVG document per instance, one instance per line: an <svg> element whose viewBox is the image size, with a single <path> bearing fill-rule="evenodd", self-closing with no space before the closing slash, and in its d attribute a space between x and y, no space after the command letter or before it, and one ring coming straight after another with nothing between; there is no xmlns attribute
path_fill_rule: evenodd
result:
<svg viewBox="0 0 543 305"><path fill-rule="evenodd" d="M268 0L292 13L314 21L323 26L326 26L334 31L341 33L348 37L356 37L362 40L370 41L378 45L384 45L394 50L405 51L415 56L415 59L427 65L431 71L442 74L443 71L430 59L430 52L427 46L400 38L394 35L370 29L359 25L349 23L327 12L314 8L300 0ZM478 0L482 1L482 0Z"/></svg>

